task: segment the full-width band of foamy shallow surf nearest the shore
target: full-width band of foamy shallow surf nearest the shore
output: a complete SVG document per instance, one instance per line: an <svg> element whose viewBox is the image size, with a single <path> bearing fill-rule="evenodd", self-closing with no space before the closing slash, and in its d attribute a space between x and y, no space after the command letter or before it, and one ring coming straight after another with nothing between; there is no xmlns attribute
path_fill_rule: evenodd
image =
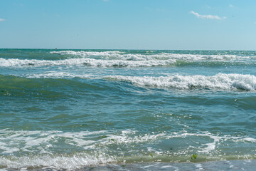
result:
<svg viewBox="0 0 256 171"><path fill-rule="evenodd" d="M218 155L218 146L226 142L233 142L233 147L236 147L235 144L237 143L245 144L246 142L253 145L256 142L254 138L213 135L208 132L137 134L136 130L122 130L119 132L102 130L72 133L53 130L0 130L0 133L0 151L1 154L6 154L0 157L0 167L13 169L29 167L32 169L75 170L92 165L120 162L133 163L141 162L142 160L149 162L155 160L186 162L190 157L186 153L189 152L199 152L203 157L200 161L211 160L211 157L213 157L212 160L216 160L214 156L208 154L214 153ZM203 141L195 144L196 146L185 145L186 142L193 140L195 137L200 137ZM178 141L181 139L183 142ZM162 146L159 142L174 143L172 140L177 140L176 143L184 143L185 146L183 149L176 149L178 151L174 150L174 152L166 150L164 146L161 149ZM129 147L134 144L139 145L139 147L130 151ZM154 147L154 145L160 145L160 148ZM114 149L112 148L113 146ZM63 151L60 154L53 152L53 149L56 150L58 147L60 147L60 150L65 150L65 153ZM68 152L73 147L80 147L79 152ZM111 151L113 150L116 155L112 154ZM9 153L15 152L20 152L20 155L9 155ZM124 152L127 152L127 154L124 155ZM253 155L244 158L253 158Z"/></svg>

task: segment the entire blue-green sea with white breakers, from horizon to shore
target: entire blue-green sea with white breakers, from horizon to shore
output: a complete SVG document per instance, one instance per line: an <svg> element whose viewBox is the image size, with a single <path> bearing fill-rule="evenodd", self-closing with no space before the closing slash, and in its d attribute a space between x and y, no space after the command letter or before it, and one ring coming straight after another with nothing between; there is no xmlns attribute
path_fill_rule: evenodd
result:
<svg viewBox="0 0 256 171"><path fill-rule="evenodd" d="M0 49L0 170L255 170L256 51Z"/></svg>

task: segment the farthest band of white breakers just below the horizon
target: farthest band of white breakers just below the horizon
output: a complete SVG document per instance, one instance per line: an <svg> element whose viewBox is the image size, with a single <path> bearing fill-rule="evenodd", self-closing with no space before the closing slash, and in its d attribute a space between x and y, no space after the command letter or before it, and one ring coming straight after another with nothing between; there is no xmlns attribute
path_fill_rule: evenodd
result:
<svg viewBox="0 0 256 171"><path fill-rule="evenodd" d="M255 65L253 56L202 55L179 53L127 53L122 51L51 51L55 60L0 58L2 67L27 66L92 66L92 67L151 67L200 65ZM48 56L48 58L50 58Z"/></svg>

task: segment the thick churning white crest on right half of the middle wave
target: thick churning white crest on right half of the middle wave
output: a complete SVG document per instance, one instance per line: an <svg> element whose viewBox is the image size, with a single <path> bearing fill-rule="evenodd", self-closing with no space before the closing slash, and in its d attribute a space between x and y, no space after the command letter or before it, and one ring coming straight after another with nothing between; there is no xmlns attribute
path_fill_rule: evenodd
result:
<svg viewBox="0 0 256 171"><path fill-rule="evenodd" d="M222 90L256 90L256 77L242 74L218 73L215 76L107 76L105 79L114 81L128 81L137 86L156 88L217 88Z"/></svg>

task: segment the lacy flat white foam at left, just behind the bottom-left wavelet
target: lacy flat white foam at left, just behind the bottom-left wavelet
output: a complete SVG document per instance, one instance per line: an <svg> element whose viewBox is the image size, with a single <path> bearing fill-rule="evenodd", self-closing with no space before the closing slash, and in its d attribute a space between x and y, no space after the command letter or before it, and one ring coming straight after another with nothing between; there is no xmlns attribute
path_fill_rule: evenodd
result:
<svg viewBox="0 0 256 171"><path fill-rule="evenodd" d="M111 131L81 131L81 132L62 132L62 131L12 131L0 130L0 152L10 154L13 152L37 152L39 154L52 154L49 147L55 148L55 143L70 145L70 147L80 147L84 150L96 149L97 145L129 144L140 142L151 142L164 136L164 133L155 135L135 135L134 130L122 130L121 133ZM106 138L99 138L102 134ZM61 142L61 140L65 140ZM58 147L57 147L58 148Z"/></svg>

